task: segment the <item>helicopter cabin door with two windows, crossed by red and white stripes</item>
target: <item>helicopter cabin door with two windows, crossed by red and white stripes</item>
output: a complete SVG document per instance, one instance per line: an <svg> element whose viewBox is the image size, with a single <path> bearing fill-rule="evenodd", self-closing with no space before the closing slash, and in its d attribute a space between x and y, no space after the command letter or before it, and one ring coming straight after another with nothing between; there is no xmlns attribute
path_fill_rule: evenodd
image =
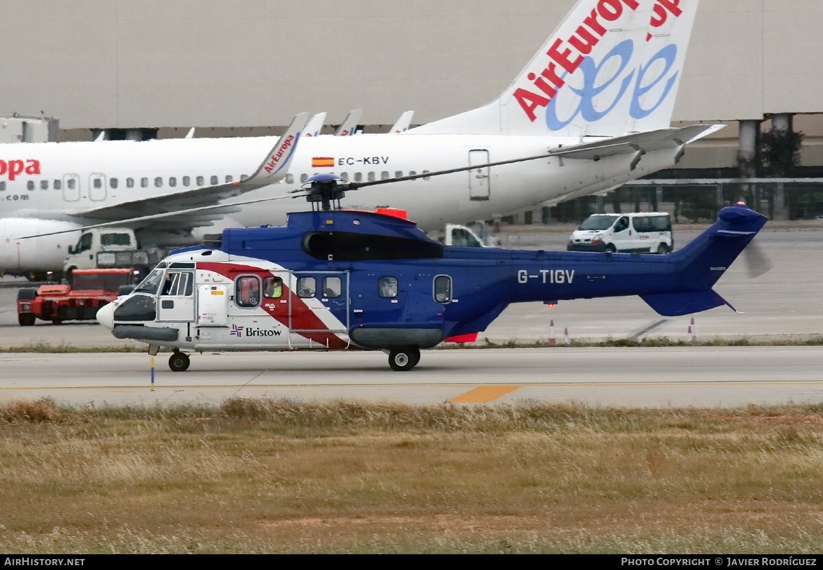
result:
<svg viewBox="0 0 823 570"><path fill-rule="evenodd" d="M291 331L348 332L348 271L295 271Z"/></svg>

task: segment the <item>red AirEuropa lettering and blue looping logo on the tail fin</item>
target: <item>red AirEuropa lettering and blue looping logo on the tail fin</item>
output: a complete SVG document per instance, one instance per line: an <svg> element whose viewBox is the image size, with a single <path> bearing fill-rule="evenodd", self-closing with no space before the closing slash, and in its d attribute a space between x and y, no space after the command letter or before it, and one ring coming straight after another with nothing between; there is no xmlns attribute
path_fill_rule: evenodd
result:
<svg viewBox="0 0 823 570"><path fill-rule="evenodd" d="M667 21L668 15L666 11L675 17L681 15L682 11L678 7L680 0L657 1L658 3L655 4L654 16L652 16L651 21L653 27L660 27ZM528 73L528 81L532 81L532 84L537 87L539 92L524 89L523 87L518 87L518 89L514 91L514 99L518 101L521 109L523 109L523 112L532 123L537 119L535 111L540 107L546 108L546 125L551 130L558 130L565 127L574 120L578 113L581 114L586 121L595 122L609 114L611 109L614 109L617 102L625 95L625 91L631 82L632 76L635 74L635 70L632 70L628 76L625 76L614 102L609 105L606 110L597 111L594 109L593 98L602 93L602 91L607 90L625 71L625 67L630 62L632 53L634 53L634 42L626 39L621 42L621 44L617 44L614 49L611 49L611 51L602 58L599 64L595 63L592 58L587 57L607 32L607 28L598 21L598 16L602 21L616 21L620 19L625 12L624 4L625 7L633 11L639 7L637 0L600 0L597 2L597 7L584 19L583 24L578 26L574 35L565 40L565 42L563 39L556 39L554 43L551 44L551 48L546 52L550 60L548 65L546 65L539 74L535 72ZM652 35L649 34L647 39L651 38ZM568 44L570 47L565 47L564 44ZM666 90L657 104L654 104L651 109L642 109L639 104L639 99L642 95L656 86L658 82L663 79L663 76L669 72L676 56L677 46L670 44L650 58L645 66L639 67L639 70L637 70L638 76L635 83L634 99L632 100L630 110L632 117L643 118L651 114L653 110L657 109L663 100L666 99L669 90L677 78L677 72L669 79ZM613 69L614 66L609 65L609 63L611 63L611 58L615 57L621 58L621 65L617 71L609 78L600 78L599 74L604 68ZM644 83L646 72L648 72L649 68L653 67L653 63L658 59L665 60L665 69L663 69L663 72L660 72L657 77L649 81L649 83ZM556 95L560 91L560 88L566 84L566 76L576 72L578 69L580 69L580 72L583 74L582 83L584 87L582 89L574 89L570 86L568 89L572 90L576 95L579 95L579 107L575 109L570 118L565 122L561 122L556 118L555 105L553 104L556 101ZM551 113L549 112L550 109Z"/></svg>

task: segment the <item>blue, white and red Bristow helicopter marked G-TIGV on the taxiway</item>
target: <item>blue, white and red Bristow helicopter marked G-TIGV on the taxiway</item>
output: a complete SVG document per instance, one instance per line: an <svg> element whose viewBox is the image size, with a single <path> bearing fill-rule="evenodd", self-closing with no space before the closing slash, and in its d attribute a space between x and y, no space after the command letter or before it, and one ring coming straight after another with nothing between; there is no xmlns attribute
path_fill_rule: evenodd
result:
<svg viewBox="0 0 823 570"><path fill-rule="evenodd" d="M738 203L674 253L577 253L444 246L398 211L332 207L397 180L309 178L293 192L313 211L176 250L97 320L151 355L172 348L174 371L202 350L383 350L405 371L422 349L476 340L512 303L639 295L664 316L734 310L712 287L767 221Z"/></svg>

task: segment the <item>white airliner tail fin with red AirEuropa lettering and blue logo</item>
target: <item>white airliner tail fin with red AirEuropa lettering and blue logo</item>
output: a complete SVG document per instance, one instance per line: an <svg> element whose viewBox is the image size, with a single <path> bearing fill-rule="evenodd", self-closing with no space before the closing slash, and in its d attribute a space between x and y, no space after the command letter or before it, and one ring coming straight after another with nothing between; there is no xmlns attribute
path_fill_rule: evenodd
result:
<svg viewBox="0 0 823 570"><path fill-rule="evenodd" d="M415 133L616 137L669 127L698 0L579 0L500 97Z"/></svg>

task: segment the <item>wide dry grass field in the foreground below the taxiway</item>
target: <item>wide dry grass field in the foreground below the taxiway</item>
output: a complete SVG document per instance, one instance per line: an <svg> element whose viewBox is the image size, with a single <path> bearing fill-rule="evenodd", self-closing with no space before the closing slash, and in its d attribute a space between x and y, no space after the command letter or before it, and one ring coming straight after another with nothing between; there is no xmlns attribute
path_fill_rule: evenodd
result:
<svg viewBox="0 0 823 570"><path fill-rule="evenodd" d="M823 405L0 407L0 551L823 551Z"/></svg>

